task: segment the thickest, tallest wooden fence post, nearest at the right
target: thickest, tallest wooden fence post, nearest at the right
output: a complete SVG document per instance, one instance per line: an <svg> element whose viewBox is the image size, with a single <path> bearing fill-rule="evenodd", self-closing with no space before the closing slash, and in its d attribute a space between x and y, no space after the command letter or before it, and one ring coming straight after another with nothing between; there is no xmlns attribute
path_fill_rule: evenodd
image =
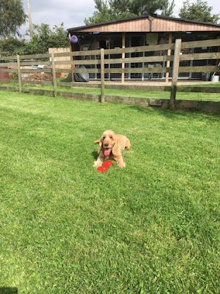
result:
<svg viewBox="0 0 220 294"><path fill-rule="evenodd" d="M172 74L172 84L170 91L170 110L175 109L175 99L177 93L177 79L179 75L179 55L181 50L181 39L176 39L174 59L173 59L173 74Z"/></svg>

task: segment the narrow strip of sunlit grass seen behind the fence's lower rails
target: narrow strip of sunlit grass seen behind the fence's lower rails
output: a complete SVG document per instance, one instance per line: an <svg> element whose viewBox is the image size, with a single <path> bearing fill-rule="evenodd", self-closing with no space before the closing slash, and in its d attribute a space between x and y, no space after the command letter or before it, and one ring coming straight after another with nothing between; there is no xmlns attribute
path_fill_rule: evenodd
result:
<svg viewBox="0 0 220 294"><path fill-rule="evenodd" d="M18 84L11 83L5 84L11 87L18 87ZM192 85L191 85L192 86ZM198 86L198 85L196 85ZM201 85L199 85L201 86ZM205 87L220 87L220 83L212 83L212 84L203 84ZM23 85L23 88L31 87L34 89L45 89L45 90L54 90L52 85ZM1 90L1 88L0 88ZM83 94L98 94L100 95L100 89L98 88L80 88L80 87L57 87L58 91L63 92L75 92L75 93L83 93ZM118 90L118 89L105 89L105 95L109 96L126 96L126 97L138 97L138 98L159 98L159 99L169 99L170 92L165 91L146 91L146 90ZM196 101L220 101L219 93L199 93L199 92L177 92L176 95L177 100L196 100Z"/></svg>

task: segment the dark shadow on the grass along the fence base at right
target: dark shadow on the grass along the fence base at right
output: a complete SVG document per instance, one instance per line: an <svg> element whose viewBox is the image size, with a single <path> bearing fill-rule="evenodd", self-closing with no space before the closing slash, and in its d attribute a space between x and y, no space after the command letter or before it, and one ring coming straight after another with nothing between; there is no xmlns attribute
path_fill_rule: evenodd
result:
<svg viewBox="0 0 220 294"><path fill-rule="evenodd" d="M199 112L199 111L193 111L193 110L188 110L188 111L183 111L183 110L174 110L171 111L169 109L159 109L159 108L153 108L153 107L142 107L139 105L131 105L130 106L131 109L136 110L137 112L141 112L142 114L147 114L147 115L151 115L151 114L158 114L161 116L165 116L168 119L175 119L177 120L178 117L185 117L185 118L201 118L203 117L203 119L208 119L208 120L212 120L212 121L219 121L220 120L220 116L219 114L208 114L206 112Z"/></svg>

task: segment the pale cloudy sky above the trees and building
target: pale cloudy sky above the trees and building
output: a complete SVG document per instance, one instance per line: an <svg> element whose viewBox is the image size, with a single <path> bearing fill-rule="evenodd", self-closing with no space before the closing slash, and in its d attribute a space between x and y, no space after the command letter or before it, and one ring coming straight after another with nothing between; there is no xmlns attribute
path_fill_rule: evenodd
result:
<svg viewBox="0 0 220 294"><path fill-rule="evenodd" d="M212 6L212 14L220 13L220 0L206 0ZM27 0L23 0L23 8L28 14ZM192 1L192 2L195 2ZM64 23L65 29L85 25L84 19L91 17L95 10L94 0L30 0L32 23L47 23L51 27ZM178 17L182 0L175 0L174 17ZM28 22L21 27L21 34L28 29Z"/></svg>

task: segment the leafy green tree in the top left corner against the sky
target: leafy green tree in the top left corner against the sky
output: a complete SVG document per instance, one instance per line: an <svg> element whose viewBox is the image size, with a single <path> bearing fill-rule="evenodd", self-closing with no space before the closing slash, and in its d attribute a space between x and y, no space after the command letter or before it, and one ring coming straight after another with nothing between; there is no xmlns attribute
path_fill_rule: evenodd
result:
<svg viewBox="0 0 220 294"><path fill-rule="evenodd" d="M19 34L26 18L21 0L0 0L0 37L7 39Z"/></svg>

